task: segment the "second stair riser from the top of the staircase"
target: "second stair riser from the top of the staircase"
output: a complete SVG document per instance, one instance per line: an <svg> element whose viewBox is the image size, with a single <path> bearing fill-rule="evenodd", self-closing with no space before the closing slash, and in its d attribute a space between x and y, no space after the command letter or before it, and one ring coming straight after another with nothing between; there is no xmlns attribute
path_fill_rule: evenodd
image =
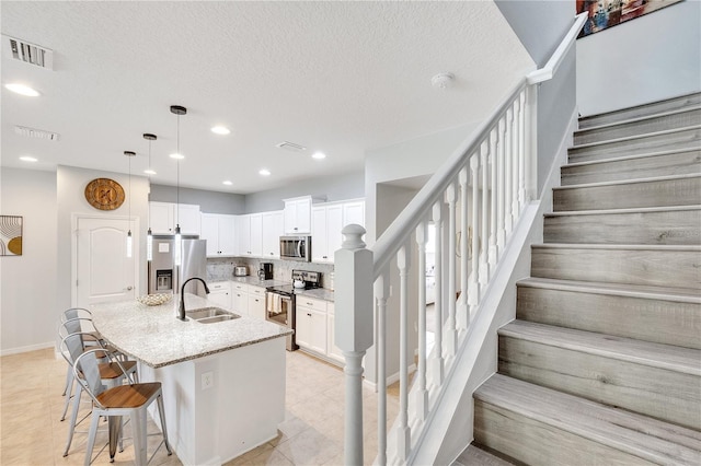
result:
<svg viewBox="0 0 701 466"><path fill-rule="evenodd" d="M669 129L686 128L698 125L701 121L701 109L692 109L673 115L650 117L640 121L621 123L605 128L583 129L574 133L574 144L588 144L591 142L610 141L631 136L646 135L650 132L666 131Z"/></svg>

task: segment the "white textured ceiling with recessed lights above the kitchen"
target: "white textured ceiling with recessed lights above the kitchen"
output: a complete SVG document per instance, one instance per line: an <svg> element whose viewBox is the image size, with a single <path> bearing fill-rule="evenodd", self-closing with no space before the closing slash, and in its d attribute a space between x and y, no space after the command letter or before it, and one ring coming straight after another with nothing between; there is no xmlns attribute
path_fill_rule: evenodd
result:
<svg viewBox="0 0 701 466"><path fill-rule="evenodd" d="M2 34L50 48L54 71L2 57L2 166L57 164L253 193L363 170L365 151L484 116L532 60L491 1L12 2ZM494 59L498 57L498 59ZM455 85L430 86L438 72ZM28 139L13 126L60 133ZM215 125L229 136L209 131ZM309 148L295 153L281 141ZM327 154L311 159L313 151ZM21 155L38 163L27 166ZM262 167L273 174L262 177ZM231 187L221 182L230 179Z"/></svg>

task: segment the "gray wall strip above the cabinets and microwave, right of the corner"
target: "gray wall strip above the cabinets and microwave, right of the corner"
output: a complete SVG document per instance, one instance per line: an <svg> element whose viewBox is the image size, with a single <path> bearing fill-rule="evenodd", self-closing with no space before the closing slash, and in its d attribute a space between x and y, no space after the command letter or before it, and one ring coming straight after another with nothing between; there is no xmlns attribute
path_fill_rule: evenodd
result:
<svg viewBox="0 0 701 466"><path fill-rule="evenodd" d="M350 172L337 176L324 176L289 183L284 188L253 193L245 196L245 212L283 210L283 199L314 196L327 201L365 197L364 172Z"/></svg>

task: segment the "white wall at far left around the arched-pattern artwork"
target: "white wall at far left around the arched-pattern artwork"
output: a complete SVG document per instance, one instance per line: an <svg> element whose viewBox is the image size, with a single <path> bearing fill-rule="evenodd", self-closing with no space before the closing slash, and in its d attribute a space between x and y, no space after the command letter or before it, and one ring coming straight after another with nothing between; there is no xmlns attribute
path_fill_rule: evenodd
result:
<svg viewBox="0 0 701 466"><path fill-rule="evenodd" d="M22 215L22 256L0 257L0 354L53 347L56 302L56 173L2 168L0 213Z"/></svg>

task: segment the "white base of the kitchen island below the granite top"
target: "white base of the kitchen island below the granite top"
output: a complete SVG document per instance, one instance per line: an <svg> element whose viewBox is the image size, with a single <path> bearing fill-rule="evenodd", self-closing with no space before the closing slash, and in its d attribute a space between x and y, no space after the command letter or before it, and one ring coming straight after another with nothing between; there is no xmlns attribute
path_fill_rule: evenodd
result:
<svg viewBox="0 0 701 466"><path fill-rule="evenodd" d="M169 441L184 465L220 465L277 436L285 358L285 338L274 338L158 369L139 364L142 382L162 383Z"/></svg>

